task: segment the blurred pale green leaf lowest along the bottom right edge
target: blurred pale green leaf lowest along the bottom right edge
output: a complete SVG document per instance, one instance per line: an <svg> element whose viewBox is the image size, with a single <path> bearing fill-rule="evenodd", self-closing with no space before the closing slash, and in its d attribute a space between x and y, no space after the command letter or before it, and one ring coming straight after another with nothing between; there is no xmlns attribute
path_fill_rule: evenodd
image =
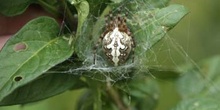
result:
<svg viewBox="0 0 220 110"><path fill-rule="evenodd" d="M202 97L183 100L171 110L219 110L219 108L219 100Z"/></svg>

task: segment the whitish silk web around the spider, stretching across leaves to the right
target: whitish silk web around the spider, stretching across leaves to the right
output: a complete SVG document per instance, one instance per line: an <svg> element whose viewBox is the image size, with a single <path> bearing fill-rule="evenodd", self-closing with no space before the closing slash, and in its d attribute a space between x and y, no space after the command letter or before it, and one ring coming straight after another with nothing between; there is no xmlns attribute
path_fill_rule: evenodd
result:
<svg viewBox="0 0 220 110"><path fill-rule="evenodd" d="M81 62L81 65L69 65L68 70L56 72L85 76L101 82L110 81L116 83L123 79L133 79L138 76L151 76L154 79L160 79L151 72L151 68L156 68L159 70L160 68L176 68L181 71L182 64L190 63L200 70L199 66L187 54L184 48L175 40L175 36L170 36L166 31L164 31L164 29L158 27L158 24L155 22L157 19L155 19L153 10L157 10L158 7L165 7L167 2L164 1L163 4L161 4L161 2L158 2L160 4L152 4L151 2L153 1L149 0L149 2L146 2L143 0L131 0L127 2L120 1L119 3L116 3L112 0L112 2L109 2L108 4L106 4L104 0L103 2L100 2L100 4L109 5L110 7L102 11L103 7L100 5L99 11L90 14L88 19L85 21L81 36L85 36L85 38L89 38L90 40L88 41L88 39L83 38L78 42L83 44L83 46L87 45L83 48L80 48L81 50L79 49L80 51L77 52L80 54L80 58L84 59ZM131 32L136 42L134 62L132 62L132 59L129 58L125 64L114 67L107 60L107 57L104 55L100 44L97 50L94 64L93 47L97 43L101 33L105 28L105 14L103 13L105 11L112 11L112 13L116 15L118 10L120 10L120 14L122 16L125 16L125 14L128 13L128 27L132 30ZM143 35L150 36L150 26L146 24L151 24L153 28L158 27L157 30L154 30L154 33L157 33L158 31L160 33L166 34L166 36L163 37L163 39L161 39L158 43L155 43L156 45L152 44L150 40L141 43L142 38L136 34L138 33L137 29L141 31L147 29ZM186 37L186 39L188 38ZM72 63L76 62L74 58L70 58L68 61ZM53 71L53 73L54 72L55 71ZM204 77L201 74L199 74L199 76L201 79ZM211 81L209 84L212 85Z"/></svg>

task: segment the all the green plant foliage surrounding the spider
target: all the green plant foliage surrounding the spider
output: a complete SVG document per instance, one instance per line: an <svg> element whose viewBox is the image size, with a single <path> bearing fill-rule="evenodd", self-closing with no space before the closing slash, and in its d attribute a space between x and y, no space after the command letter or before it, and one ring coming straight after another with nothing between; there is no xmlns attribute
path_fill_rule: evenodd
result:
<svg viewBox="0 0 220 110"><path fill-rule="evenodd" d="M0 1L0 12L5 16L22 14L35 3L55 17L66 12L65 22L69 28L60 33L53 18L39 17L8 40L0 52L0 105L27 104L67 90L86 88L77 109L153 110L160 90L150 73L165 80L175 79L183 100L173 110L191 110L195 106L204 110L218 108L219 97L215 97L219 92L218 68L215 68L219 65L216 64L218 57L201 62L208 65L201 69L186 64L181 71L149 67L146 63L149 49L188 13L184 6L168 5L169 0L131 0L128 4L123 0L13 0L13 4L10 1ZM127 9L132 15L128 16L128 25L137 43L134 55L138 59L132 66L128 61L120 67L98 59L107 67L100 63L96 67L89 58L102 32L104 16L109 10L115 12L123 6L126 6L123 12ZM59 7L65 8L60 11ZM74 14L78 15L77 19ZM74 22L77 28L72 25ZM200 71L203 69L207 69L205 73ZM214 80L212 86L210 80Z"/></svg>

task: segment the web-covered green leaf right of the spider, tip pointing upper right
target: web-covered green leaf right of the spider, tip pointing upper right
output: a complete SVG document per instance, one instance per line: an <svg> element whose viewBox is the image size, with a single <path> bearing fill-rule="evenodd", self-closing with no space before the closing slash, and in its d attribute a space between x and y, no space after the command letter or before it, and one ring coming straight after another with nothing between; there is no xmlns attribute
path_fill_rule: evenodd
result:
<svg viewBox="0 0 220 110"><path fill-rule="evenodd" d="M160 41L187 13L188 10L182 5L137 11L129 23L136 42L135 54L141 60L138 62L147 62L147 54L143 51L147 52Z"/></svg>

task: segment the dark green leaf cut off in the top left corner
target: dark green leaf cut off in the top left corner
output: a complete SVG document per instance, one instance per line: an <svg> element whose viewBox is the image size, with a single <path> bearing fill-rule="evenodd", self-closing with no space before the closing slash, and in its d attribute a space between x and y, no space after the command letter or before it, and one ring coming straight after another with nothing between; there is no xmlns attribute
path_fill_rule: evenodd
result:
<svg viewBox="0 0 220 110"><path fill-rule="evenodd" d="M0 13L15 16L23 13L34 0L1 0Z"/></svg>

